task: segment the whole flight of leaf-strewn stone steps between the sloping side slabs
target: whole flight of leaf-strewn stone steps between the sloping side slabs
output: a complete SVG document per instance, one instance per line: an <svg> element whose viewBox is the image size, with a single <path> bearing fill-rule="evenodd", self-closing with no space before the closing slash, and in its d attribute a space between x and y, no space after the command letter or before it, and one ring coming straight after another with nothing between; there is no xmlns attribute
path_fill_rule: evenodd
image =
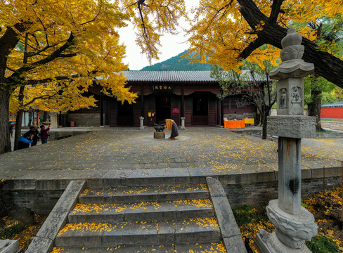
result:
<svg viewBox="0 0 343 253"><path fill-rule="evenodd" d="M226 252L209 197L206 184L86 188L53 252Z"/></svg>

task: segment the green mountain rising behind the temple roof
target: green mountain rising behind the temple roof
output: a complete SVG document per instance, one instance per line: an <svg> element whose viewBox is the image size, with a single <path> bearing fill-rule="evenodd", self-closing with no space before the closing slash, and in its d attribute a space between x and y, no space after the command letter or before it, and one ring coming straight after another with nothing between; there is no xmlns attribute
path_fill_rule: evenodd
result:
<svg viewBox="0 0 343 253"><path fill-rule="evenodd" d="M145 71L164 71L164 70L211 70L211 65L207 63L190 63L189 59L181 59L181 56L186 53L179 53L179 55L164 60L162 63L156 63L152 66L143 67L141 70Z"/></svg>

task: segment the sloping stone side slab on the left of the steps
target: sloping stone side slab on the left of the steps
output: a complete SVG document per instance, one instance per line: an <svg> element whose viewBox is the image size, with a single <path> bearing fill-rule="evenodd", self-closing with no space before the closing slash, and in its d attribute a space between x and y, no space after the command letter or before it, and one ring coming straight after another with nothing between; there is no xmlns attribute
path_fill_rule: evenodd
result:
<svg viewBox="0 0 343 253"><path fill-rule="evenodd" d="M86 181L70 181L53 210L44 221L37 235L33 238L26 253L48 253L53 249L53 242L65 223L69 212L77 204L79 195L86 188Z"/></svg>

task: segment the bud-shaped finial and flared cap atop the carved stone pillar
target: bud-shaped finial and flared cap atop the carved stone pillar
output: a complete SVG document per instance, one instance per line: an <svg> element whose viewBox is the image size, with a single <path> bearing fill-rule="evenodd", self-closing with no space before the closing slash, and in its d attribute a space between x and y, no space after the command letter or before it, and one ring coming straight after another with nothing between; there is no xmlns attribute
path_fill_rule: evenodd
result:
<svg viewBox="0 0 343 253"><path fill-rule="evenodd" d="M271 71L271 79L282 80L290 77L306 77L314 70L313 63L302 60L304 46L302 45L302 34L298 34L294 27L290 27L286 37L281 40L280 57L283 62L275 70Z"/></svg>

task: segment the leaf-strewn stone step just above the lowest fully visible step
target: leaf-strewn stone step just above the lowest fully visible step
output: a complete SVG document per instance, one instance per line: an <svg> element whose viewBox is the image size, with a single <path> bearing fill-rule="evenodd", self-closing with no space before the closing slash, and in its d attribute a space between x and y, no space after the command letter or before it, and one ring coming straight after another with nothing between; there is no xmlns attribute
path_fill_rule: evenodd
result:
<svg viewBox="0 0 343 253"><path fill-rule="evenodd" d="M70 223L165 221L214 216L212 202L205 200L174 200L133 204L77 204L70 212Z"/></svg>

